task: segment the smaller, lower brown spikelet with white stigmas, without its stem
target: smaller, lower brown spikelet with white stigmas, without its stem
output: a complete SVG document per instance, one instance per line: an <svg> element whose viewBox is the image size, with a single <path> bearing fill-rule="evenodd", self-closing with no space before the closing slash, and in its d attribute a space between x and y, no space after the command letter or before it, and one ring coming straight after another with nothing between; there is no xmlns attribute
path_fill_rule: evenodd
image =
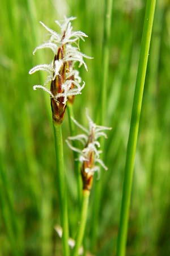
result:
<svg viewBox="0 0 170 256"><path fill-rule="evenodd" d="M77 125L80 129L84 131L84 134L79 134L74 137L68 137L66 140L67 145L75 152L79 153L79 161L82 163L82 179L83 179L83 189L89 190L92 186L92 180L94 176L94 172L100 171L99 165L100 164L105 170L108 168L105 166L103 160L100 159L101 150L100 142L98 139L103 136L107 138L107 135L104 133L103 130L111 130L110 127L96 125L90 116L86 113L88 122L89 122L89 129L84 128L80 123L78 123L75 119L73 122ZM70 141L80 141L83 144L83 149L80 150L79 148L73 147Z"/></svg>

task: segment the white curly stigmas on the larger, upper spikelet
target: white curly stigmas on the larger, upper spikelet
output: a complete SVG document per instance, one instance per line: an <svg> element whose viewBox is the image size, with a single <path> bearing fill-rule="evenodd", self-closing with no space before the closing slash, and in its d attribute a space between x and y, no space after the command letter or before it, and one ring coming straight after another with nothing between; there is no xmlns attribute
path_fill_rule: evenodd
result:
<svg viewBox="0 0 170 256"><path fill-rule="evenodd" d="M42 26L45 27L46 30L49 32L50 38L48 42L45 42L40 46L37 46L33 51L33 54L35 54L35 52L38 49L50 48L52 49L54 55L56 55L58 52L58 48L65 46L64 56L62 59L55 60L54 63L52 61L52 63L50 64L36 65L29 71L29 74L35 73L37 71L48 72L48 77L44 82L44 85L34 85L33 89L36 90L37 88L40 88L44 90L45 92L49 93L50 97L54 98L54 100L56 101L59 97L63 97L63 104L66 104L67 97L81 94L81 91L85 85L85 82L83 82L83 84L80 85L80 82L82 80L79 77L79 71L73 69L74 63L78 62L79 67L81 65L84 65L84 68L87 70L87 65L84 62L83 58L92 59L91 57L79 51L79 39L82 39L84 41L84 38L86 38L87 35L82 31L73 31L73 27L71 26L71 20L74 19L74 17L65 17L62 24L59 23L58 20L55 21L61 30L60 34L58 34L56 31L53 31L51 28L47 27L44 23L40 22ZM55 80L56 76L59 76L59 71L61 70L63 64L69 61L71 61L72 65L70 67L70 70L66 72L66 81L62 84L63 93L59 93L54 96L53 93L45 87L45 85L49 81ZM74 80L71 80L71 77L73 76ZM74 84L74 88L71 88L71 84Z"/></svg>

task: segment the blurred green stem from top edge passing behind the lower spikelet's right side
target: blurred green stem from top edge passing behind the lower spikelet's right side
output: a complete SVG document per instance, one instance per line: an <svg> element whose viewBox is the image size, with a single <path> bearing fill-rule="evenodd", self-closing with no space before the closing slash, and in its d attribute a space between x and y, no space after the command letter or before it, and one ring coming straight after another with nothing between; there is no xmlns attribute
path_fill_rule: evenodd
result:
<svg viewBox="0 0 170 256"><path fill-rule="evenodd" d="M112 0L105 0L105 13L104 13L104 33L103 33L103 61L102 61L102 77L100 86L100 109L99 109L99 123L104 124L105 108L107 101L107 84L108 84L108 67L109 67L109 38L111 35L111 20L112 20ZM103 148L103 139L100 140L101 149ZM101 173L102 175L102 173ZM93 207L93 220L91 228L91 247L93 248L96 243L98 216L100 210L101 199L101 180L96 183L95 198Z"/></svg>

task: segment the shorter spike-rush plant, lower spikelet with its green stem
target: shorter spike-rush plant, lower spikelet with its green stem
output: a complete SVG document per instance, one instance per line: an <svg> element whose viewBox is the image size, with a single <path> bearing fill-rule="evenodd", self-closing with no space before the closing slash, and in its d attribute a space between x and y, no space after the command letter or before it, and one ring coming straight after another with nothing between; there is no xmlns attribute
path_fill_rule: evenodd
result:
<svg viewBox="0 0 170 256"><path fill-rule="evenodd" d="M92 181L94 177L94 173L100 171L100 167L97 164L100 164L105 170L108 168L103 163L103 160L100 159L101 150L100 142L98 139L100 137L107 138L107 135L104 133L103 130L110 130L111 128L105 126L96 125L90 116L86 113L89 129L84 128L80 123L78 123L75 119L73 122L77 125L81 130L84 131L84 134L79 134L74 137L69 137L67 139L68 146L73 150L79 153L79 162L82 164L81 166L81 175L83 181L83 195L82 195L82 205L80 210L80 225L78 228L78 232L76 234L76 241L75 247L73 250L73 256L77 256L79 252L79 248L81 246L83 236L84 236L84 229L86 226L87 220L87 210L88 210L88 201L90 196L90 191L92 187ZM70 141L79 141L83 144L83 148L75 148L71 145Z"/></svg>

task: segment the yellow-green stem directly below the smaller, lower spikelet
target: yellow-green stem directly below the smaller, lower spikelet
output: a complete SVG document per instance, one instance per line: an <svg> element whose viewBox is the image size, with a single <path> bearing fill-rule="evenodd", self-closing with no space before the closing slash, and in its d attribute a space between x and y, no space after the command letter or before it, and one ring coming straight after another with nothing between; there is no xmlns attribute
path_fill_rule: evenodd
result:
<svg viewBox="0 0 170 256"><path fill-rule="evenodd" d="M88 200L90 196L90 191L84 190L82 195L82 207L80 212L80 224L78 232L76 234L75 247L73 251L73 256L78 256L79 248L83 241L84 230L86 228L87 212L88 212Z"/></svg>

